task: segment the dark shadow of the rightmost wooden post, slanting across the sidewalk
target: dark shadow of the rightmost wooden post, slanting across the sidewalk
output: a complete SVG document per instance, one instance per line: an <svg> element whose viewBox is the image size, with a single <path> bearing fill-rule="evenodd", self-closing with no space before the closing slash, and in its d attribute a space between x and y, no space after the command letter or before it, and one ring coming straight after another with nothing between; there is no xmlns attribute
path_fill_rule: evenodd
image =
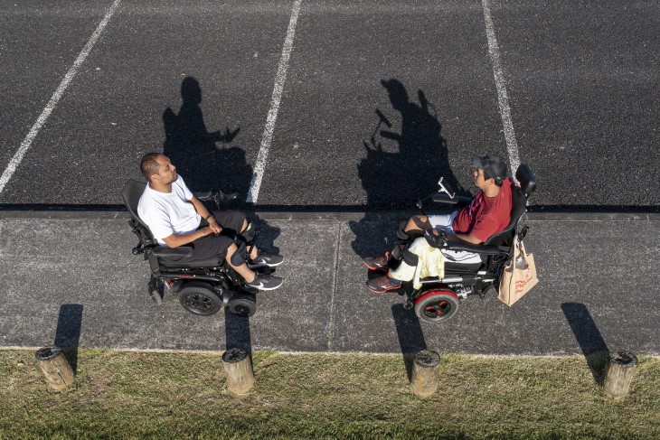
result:
<svg viewBox="0 0 660 440"><path fill-rule="evenodd" d="M580 345L596 383L602 385L605 379L605 364L608 361L608 344L601 336L596 323L589 314L587 306L581 303L561 304L566 320L569 322L570 330L573 331L575 339Z"/></svg>

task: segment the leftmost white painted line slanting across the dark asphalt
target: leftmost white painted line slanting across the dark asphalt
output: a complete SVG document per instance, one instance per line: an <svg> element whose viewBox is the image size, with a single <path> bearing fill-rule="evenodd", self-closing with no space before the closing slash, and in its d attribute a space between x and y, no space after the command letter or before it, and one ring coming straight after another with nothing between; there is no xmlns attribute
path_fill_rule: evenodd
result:
<svg viewBox="0 0 660 440"><path fill-rule="evenodd" d="M82 48L82 51L80 51L76 61L73 62L73 65L67 72L64 80L61 80L60 87L55 90L51 100L48 101L46 107L43 108L42 114L37 118L37 121L34 123L27 136L25 136L21 146L18 148L18 151L16 151L14 157L12 157L12 160L9 161L9 164L5 168L5 172L3 173L2 177L0 177L0 194L5 191L6 184L9 183L9 180L14 175L16 168L19 164L21 164L21 161L23 161L23 156L25 153L27 153L27 150L30 148L30 145L32 145L34 138L39 134L39 130L41 130L42 126L46 123L48 117L51 116L52 110L55 108L55 106L57 106L57 103L60 101L64 91L67 89L67 87L69 87L71 80L73 80L73 77L76 76L76 73L78 73L80 65L90 54L90 51L94 47L94 44L97 42L97 40L99 40L100 34L105 29L112 14L115 14L115 11L117 10L120 2L121 0L115 0L115 2L110 6L108 12L103 17L103 20L101 20L97 26L96 31L91 34L90 40L87 42L87 44L85 44L85 47Z"/></svg>

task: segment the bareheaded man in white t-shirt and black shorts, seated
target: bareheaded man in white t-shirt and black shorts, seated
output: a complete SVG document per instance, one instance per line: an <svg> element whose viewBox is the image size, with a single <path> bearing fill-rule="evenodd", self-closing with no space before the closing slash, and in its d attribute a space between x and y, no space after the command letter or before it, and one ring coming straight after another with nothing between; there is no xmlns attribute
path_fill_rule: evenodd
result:
<svg viewBox="0 0 660 440"><path fill-rule="evenodd" d="M218 257L220 261L224 259L245 278L248 286L259 290L273 290L282 285L278 276L257 274L250 268L278 266L283 261L281 256L254 247L246 263L233 239L221 234L223 229L239 234L248 229L250 223L244 214L237 211L209 212L190 192L164 154L145 154L140 170L148 183L137 204L137 215L151 229L158 243L169 248L192 247L193 257L186 262L212 257Z"/></svg>

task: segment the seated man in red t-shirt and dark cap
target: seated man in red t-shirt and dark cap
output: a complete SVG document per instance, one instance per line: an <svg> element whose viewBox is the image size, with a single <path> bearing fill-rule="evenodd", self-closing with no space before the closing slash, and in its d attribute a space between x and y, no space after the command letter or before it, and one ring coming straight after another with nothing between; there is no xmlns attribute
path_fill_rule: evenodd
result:
<svg viewBox="0 0 660 440"><path fill-rule="evenodd" d="M410 266L417 265L417 256L407 252L405 245L423 235L425 230L438 234L444 229L447 239L482 244L490 236L506 228L511 220L511 186L514 183L506 177L506 164L496 155L472 156L472 170L475 185L479 191L469 206L450 215L415 215L397 231L401 240L391 252L378 257L364 258L364 265L372 270L389 270L392 258L403 259ZM474 252L442 249L447 261L453 263L480 263L481 258ZM382 293L401 287L401 281L388 273L367 283L372 292Z"/></svg>

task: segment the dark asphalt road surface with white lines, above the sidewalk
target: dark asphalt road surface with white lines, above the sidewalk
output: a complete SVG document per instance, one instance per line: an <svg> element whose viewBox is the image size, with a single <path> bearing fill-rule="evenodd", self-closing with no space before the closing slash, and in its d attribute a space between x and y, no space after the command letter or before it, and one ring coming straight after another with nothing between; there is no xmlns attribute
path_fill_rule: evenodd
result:
<svg viewBox="0 0 660 440"><path fill-rule="evenodd" d="M533 166L534 209L655 212L659 24L648 1L2 0L0 203L118 205L156 150L194 189L247 200L259 174L263 208L401 209L440 175L473 191L491 153Z"/></svg>

